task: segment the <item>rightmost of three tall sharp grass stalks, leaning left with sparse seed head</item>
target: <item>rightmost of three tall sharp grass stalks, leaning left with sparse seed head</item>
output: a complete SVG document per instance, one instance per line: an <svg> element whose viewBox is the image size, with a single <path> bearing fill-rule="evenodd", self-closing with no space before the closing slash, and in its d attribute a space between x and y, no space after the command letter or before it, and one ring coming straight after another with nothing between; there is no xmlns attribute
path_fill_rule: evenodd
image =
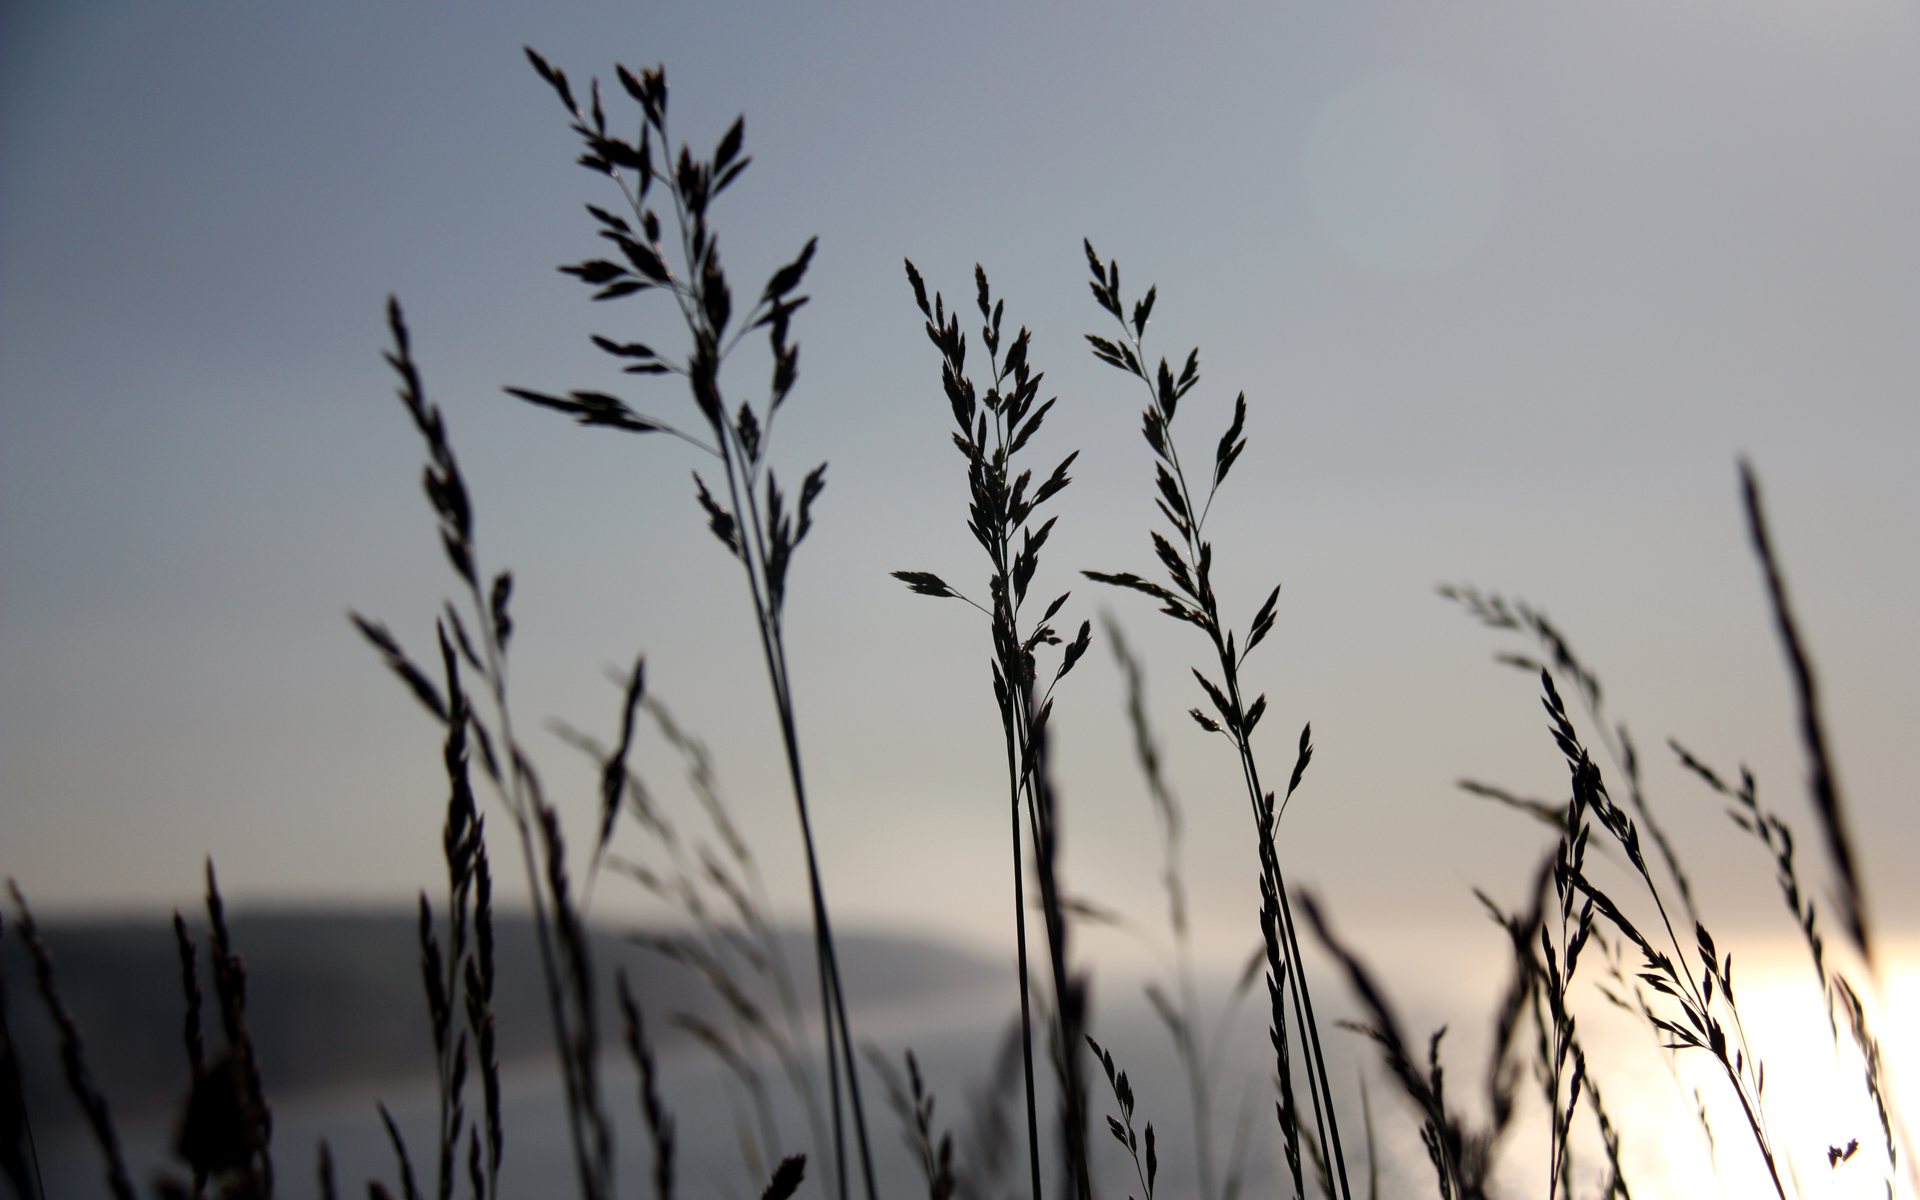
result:
<svg viewBox="0 0 1920 1200"><path fill-rule="evenodd" d="M1142 415L1142 434L1156 457L1154 484L1160 495L1154 503L1160 507L1162 516L1165 516L1167 522L1171 522L1179 532L1181 545L1175 547L1162 534L1152 534L1154 551L1177 591L1142 580L1131 572L1102 574L1087 570L1081 574L1102 584L1131 588L1162 601L1162 612L1198 626L1213 643L1213 651L1219 660L1221 684L1213 684L1198 668L1194 670L1194 678L1200 682L1200 687L1206 691L1221 720L1213 720L1213 716L1208 716L1200 708L1194 708L1192 716L1200 728L1212 733L1225 733L1229 741L1233 741L1240 758L1240 776L1246 783L1248 803L1254 810L1256 839L1260 843L1263 906L1261 925L1263 935L1269 939L1269 958L1273 962L1273 981L1269 987L1284 987L1292 996L1294 1020L1306 1033L1302 1039L1302 1052L1308 1064L1308 1094L1313 1102L1321 1160L1332 1162L1340 1181L1340 1196L1344 1200L1352 1200L1352 1188L1346 1179L1346 1156L1340 1148L1340 1123L1332 1104L1332 1087L1327 1075L1325 1054L1319 1044L1319 1025L1313 1020L1313 996L1308 989L1306 972L1300 962L1300 935L1294 929L1292 904L1288 900L1286 883L1281 876L1279 854L1273 847L1273 826L1279 820L1279 812L1284 810L1284 803L1281 808L1275 808L1273 793L1261 787L1260 766L1252 749L1254 726L1260 724L1260 718L1267 710L1267 697L1261 695L1248 705L1240 691L1240 664L1273 630L1273 611L1279 603L1281 589L1275 588L1273 593L1267 595L1267 601L1254 614L1246 645L1236 651L1235 636L1221 622L1219 601L1213 595L1213 584L1210 578L1213 566L1213 547L1200 538L1206 515L1213 505L1213 495L1219 492L1219 486L1225 482L1235 461L1246 449L1246 438L1240 436L1246 428L1246 394L1242 392L1235 401L1233 424L1219 440L1219 447L1213 455L1212 484L1206 497L1196 503L1194 490L1188 484L1179 449L1173 442L1171 422L1179 399L1200 382L1200 351L1194 349L1187 355L1187 363L1181 369L1179 378L1175 378L1165 359L1160 359L1156 374L1148 374L1144 367L1146 351L1142 349L1142 338L1146 336L1146 321L1154 311L1158 288L1148 288L1146 296L1135 301L1129 323L1127 309L1121 305L1119 298L1119 263L1102 263L1100 255L1094 253L1092 242L1083 242L1083 248L1087 252L1087 265L1092 271L1091 288L1094 300L1114 317L1116 323L1119 323L1121 332L1117 342L1096 334L1087 334L1087 342L1092 346L1096 359L1137 376L1146 386L1150 403ZM1302 733L1300 758L1294 766L1286 799L1292 799L1294 789L1300 785L1300 776L1306 770L1308 758L1308 735ZM1267 914L1269 908L1271 918ZM1279 991L1275 991L1275 1018L1284 1023ZM1275 1027L1273 1033L1275 1048L1281 1050L1281 1044L1286 1041L1284 1031ZM1277 1056L1275 1066L1284 1083L1284 1075L1290 1071L1284 1052Z"/></svg>

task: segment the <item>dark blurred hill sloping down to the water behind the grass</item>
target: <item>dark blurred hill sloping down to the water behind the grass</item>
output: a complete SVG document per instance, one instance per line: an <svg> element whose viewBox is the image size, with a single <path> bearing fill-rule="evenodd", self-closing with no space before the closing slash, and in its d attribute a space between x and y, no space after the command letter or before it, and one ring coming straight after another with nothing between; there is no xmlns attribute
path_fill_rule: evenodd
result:
<svg viewBox="0 0 1920 1200"><path fill-rule="evenodd" d="M497 983L493 1010L503 1064L551 1054L534 925L528 916L495 916ZM417 918L407 912L255 912L228 920L234 950L248 970L248 1025L269 1100L315 1089L365 1087L432 1075L432 1033L420 981ZM169 922L46 922L60 996L86 1041L86 1062L113 1114L138 1117L175 1108L186 1092L182 1048L184 993ZM645 929L659 935L662 929ZM444 937L444 933L442 933ZM209 1048L219 1044L219 1012L200 943L202 1016ZM787 931L781 952L806 1014L818 1006L812 935ZM1006 968L968 950L900 935L839 933L849 1006L883 1010L993 987ZM716 1025L722 1006L685 966L647 950L624 931L595 929L595 987L601 1044L618 1054L620 1021L611 1002L624 968L649 1035L662 1054L691 1039L670 1025L674 1012ZM745 975L741 968L741 975ZM0 937L6 1020L21 1058L27 1106L36 1121L81 1119L60 1077L52 1020L33 981L33 960L8 922ZM751 991L751 989L749 989ZM751 991L768 1014L768 989ZM1010 993L1008 993L1010 995Z"/></svg>

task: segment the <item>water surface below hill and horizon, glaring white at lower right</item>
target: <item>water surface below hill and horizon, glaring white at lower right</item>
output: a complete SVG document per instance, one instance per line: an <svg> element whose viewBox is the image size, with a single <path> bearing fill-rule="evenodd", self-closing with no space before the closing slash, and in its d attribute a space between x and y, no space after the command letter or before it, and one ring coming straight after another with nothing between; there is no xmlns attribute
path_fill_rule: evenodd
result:
<svg viewBox="0 0 1920 1200"><path fill-rule="evenodd" d="M1897 1079L1914 1079L1920 1069L1920 954L1916 947L1897 947L1884 954L1885 996L1876 1016L1876 1031L1884 1041L1887 1069ZM1419 968L1419 952L1398 947L1398 954L1380 954L1380 962L1396 962L1396 979L1409 977ZM1438 947L1428 947L1440 954ZM1450 972L1423 973L1438 983L1436 995L1409 1002L1402 1020L1411 1039L1425 1044L1427 1035L1446 1021L1444 1041L1448 1094L1475 1119L1484 1116L1480 1104L1480 1071L1484 1064L1486 1000L1482 993L1496 987L1503 964L1492 956L1461 968L1457 941L1448 950ZM1582 964L1582 977L1586 975ZM1596 977L1599 972L1596 970ZM1352 1016L1344 1010L1331 977L1321 975L1317 996L1331 1018ZM1826 1014L1822 1012L1805 950L1776 945L1768 952L1736 948L1734 981L1745 1020L1747 1041L1766 1066L1766 1117L1776 1148L1791 1164L1803 1196L1884 1196L1885 1156L1878 1117L1860 1089L1860 1060L1851 1052L1841 1029L1841 1052L1836 1054ZM1409 989L1396 989L1411 995ZM1215 981L1204 989L1204 1008L1213 1010L1225 993ZM1490 995L1490 993L1488 993ZM1104 979L1102 1008L1096 1010L1096 1035L1114 1048L1123 1069L1135 1079L1140 1096L1139 1117L1160 1131L1162 1173L1160 1200L1192 1200L1192 1133L1187 1116L1187 1092L1177 1075L1164 1029L1158 1027L1146 1004L1137 998L1137 987L1112 973ZM1246 1196L1279 1194L1281 1181L1277 1139L1271 1131L1271 1091L1267 1071L1265 1029L1260 1025L1260 996L1238 1021L1229 1052L1223 1056L1238 1079L1223 1079L1217 1104L1217 1146L1225 1156L1231 1140L1236 1104L1252 1117L1252 1152L1246 1171ZM1866 996L1876 1006L1874 996ZM1448 1012L1452 1010L1452 1012ZM964 1121L968 1092L977 1089L989 1069L993 1048L1012 1004L998 995L970 993L916 1012L874 1012L856 1021L879 1041L899 1062L899 1052L912 1044L918 1050L927 1083L939 1096L935 1123L952 1127ZM1661 1052L1638 1018L1609 1010L1597 995L1588 995L1580 1008L1580 1029L1588 1046L1590 1066L1599 1081L1609 1116L1622 1131L1622 1162L1634 1196L1764 1196L1772 1194L1764 1169L1753 1150L1738 1104L1732 1100L1718 1068L1699 1052L1668 1058ZM1359 1073L1367 1077L1375 1129L1380 1146L1382 1194L1432 1194L1432 1171L1417 1140L1411 1108L1400 1100L1392 1085L1367 1056L1359 1039L1334 1031L1327 1043L1332 1060L1334 1089L1354 1096L1352 1112L1342 1114L1348 1133L1348 1164L1356 1194L1365 1194L1363 1117L1357 1112ZM618 1179L622 1196L643 1196L649 1190L645 1135L637 1121L636 1079L632 1069L609 1048L609 1069L603 1094L614 1116L614 1137L620 1152ZM737 1129L745 1112L737 1087L730 1089L710 1060L682 1052L664 1064L662 1096L676 1116L680 1139L680 1194L739 1196L758 1194L747 1169ZM1229 1071L1231 1073L1231 1071ZM877 1081L866 1077L866 1106L876 1140L876 1167L883 1196L916 1196L924 1192L914 1164L900 1146L899 1123L887 1110ZM1342 1079L1346 1083L1342 1083ZM1693 1092L1705 1100L1715 1133L1716 1154L1709 1152L1693 1116ZM559 1106L559 1089L547 1069L518 1068L509 1073L507 1104L507 1175L509 1196L551 1196L572 1190L572 1167L566 1154L566 1131ZM1112 1112L1112 1096L1104 1079L1094 1077L1094 1154L1100 1192L1110 1198L1139 1192L1133 1167L1123 1152L1100 1131L1100 1117ZM426 1085L390 1089L384 1100L394 1110L415 1156L422 1187L430 1188L432 1129L436 1100ZM369 1177L397 1183L394 1156L380 1131L372 1108L374 1096L365 1092L288 1096L276 1104L275 1146L278 1164L278 1194L303 1198L317 1194L313 1148L328 1139L342 1194L365 1194ZM478 1104L468 1098L468 1110ZM1523 1083L1523 1112L1509 1133L1496 1173L1501 1196L1546 1194L1546 1117L1538 1092ZM1584 1108L1584 1106L1582 1106ZM780 1110L781 1137L787 1146L804 1142L804 1121L795 1106ZM1043 1117L1044 1119L1044 1117ZM1576 1142L1576 1194L1594 1194L1601 1183L1597 1140L1588 1116L1580 1117ZM129 1162L142 1187L154 1179L163 1162L169 1135L165 1121L131 1123L127 1135ZM1828 1146L1845 1146L1859 1139L1859 1152L1837 1169L1826 1164ZM79 1129L52 1131L40 1144L50 1196L104 1194L104 1181L84 1133ZM766 1164L762 1164L766 1165ZM1718 1175L1716 1175L1718 1169ZM818 1164L808 1171L810 1185L820 1181ZM762 1177L764 1179L764 1177ZM1129 1188L1131 1185L1131 1188ZM856 1188L858 1190L858 1188ZM1023 1188L1021 1188L1023 1190ZM394 1188L396 1194L397 1188ZM1789 1183L1789 1194L1793 1185ZM1899 1194L1912 1187L1899 1183Z"/></svg>

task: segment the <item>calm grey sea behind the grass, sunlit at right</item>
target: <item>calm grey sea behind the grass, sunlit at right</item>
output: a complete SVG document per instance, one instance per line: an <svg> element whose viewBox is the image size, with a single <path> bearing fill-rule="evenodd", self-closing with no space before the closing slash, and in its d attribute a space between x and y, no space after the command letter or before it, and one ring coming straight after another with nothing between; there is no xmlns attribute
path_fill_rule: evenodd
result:
<svg viewBox="0 0 1920 1200"><path fill-rule="evenodd" d="M1870 1165L1864 1154L1859 1164L1847 1164L1839 1171L1830 1171L1824 1162L1826 1144L1845 1142L1849 1133L1866 1140L1876 1129L1870 1125L1870 1116L1862 1116L1851 1079L1845 1071L1836 1073L1832 1068L1832 1046L1826 1041L1826 1021L1818 1012L1818 1000L1811 989L1774 989L1761 977L1751 979L1747 989L1743 1008L1751 1014L1749 1033L1757 1046L1770 1046L1766 1052L1768 1100L1778 1110L1776 1140L1795 1156L1803 1194L1884 1194L1878 1167ZM1221 993L1219 989L1210 991L1213 1002L1204 1004L1204 1008L1213 1012ZM1336 1008L1338 996L1332 995L1331 981L1325 991L1329 993L1325 1008ZM1165 1031L1137 991L1116 981L1106 985L1102 998L1106 1008L1094 1014L1094 1035L1114 1050L1119 1066L1133 1075L1139 1094L1137 1123L1144 1127L1146 1121L1152 1121L1160 1135L1156 1196L1160 1200L1194 1200L1198 1188L1192 1165L1188 1094ZM1258 1002L1261 996L1256 995L1254 1000ZM1448 1006L1452 1012L1444 1012ZM993 1071L995 1052L1010 1016L1010 998L996 989L993 993L950 995L935 1006L870 1010L858 1014L854 1025L860 1037L883 1046L895 1064L899 1064L899 1052L904 1046L914 1046L927 1085L937 1096L935 1127L954 1129L964 1154L964 1129L972 1096L983 1089ZM1371 1050L1352 1033L1332 1027L1331 1018L1338 1016L1346 1014L1323 1012L1323 1020L1329 1021L1327 1052L1332 1062L1334 1091L1346 1104L1342 1127L1346 1129L1348 1165L1356 1194L1367 1194L1367 1117L1359 1112L1359 1079L1365 1077L1379 1144L1380 1194L1432 1196L1432 1171L1417 1140L1411 1110L1382 1081ZM1463 1102L1469 1112L1478 1114L1486 1044L1484 1006L1436 1000L1428 1010L1415 1008L1404 1014L1409 1033L1428 1033L1450 1016L1457 1020L1457 1025L1444 1043L1448 1094L1455 1102ZM1586 1020L1582 1018L1582 1021ZM1624 1129L1622 1158L1636 1196L1711 1198L1772 1192L1764 1175L1755 1169L1751 1140L1747 1140L1738 1112L1724 1108L1724 1096L1715 1092L1716 1083L1711 1071L1699 1069L1701 1064L1688 1066L1686 1062L1676 1068L1651 1048L1644 1029L1630 1023L1609 1025L1603 1014L1596 1014L1594 1021L1582 1027L1594 1069L1603 1081L1607 1104L1617 1125ZM1421 1044L1425 1044L1425 1037L1421 1037ZM1271 1050L1265 1044L1265 1025L1258 1004L1240 1014L1235 1037L1221 1046L1219 1064L1213 1116L1217 1156L1227 1158L1236 1117L1244 1114L1250 1148L1244 1160L1240 1194L1248 1200L1284 1194L1286 1187L1281 1183L1284 1167L1273 1135ZM1044 1073L1044 1060L1039 1066ZM780 1098L772 1119L778 1125L783 1152L810 1150L804 1116L791 1102L791 1092L778 1068L768 1062L764 1069L772 1092ZM1106 1200L1139 1196L1140 1187L1133 1175L1133 1164L1104 1131L1102 1117L1116 1112L1116 1106L1098 1068L1092 1069L1092 1146L1100 1194ZM662 1075L662 1098L678 1125L678 1194L718 1200L758 1196L766 1179L764 1169L772 1164L762 1162L762 1171L747 1167L741 1131L758 1129L760 1121L747 1104L745 1091L732 1083L710 1056L697 1050L678 1050L664 1058ZM925 1185L900 1140L900 1121L889 1110L877 1077L864 1064L862 1079L881 1194L891 1198L924 1196ZM1507 1196L1546 1194L1546 1123L1540 1114L1532 1112L1538 1108L1538 1100L1530 1089L1530 1083L1523 1083L1523 1108L1524 1108L1526 1116L1509 1135L1500 1160L1501 1194ZM1695 1089L1716 1112L1718 1171L1692 1117ZM632 1068L624 1064L624 1054L616 1054L614 1048L609 1048L607 1054L603 1094L607 1110L614 1117L618 1194L651 1196L651 1158L647 1137L637 1119L636 1077ZM1016 1129L1023 1125L1023 1106L1018 1094L1016 1071L1012 1104L1006 1110ZM363 1196L367 1179L382 1179L399 1194L394 1154L374 1112L374 1098L365 1091L276 1098L275 1162L280 1196L290 1200L317 1196L315 1146L323 1137L332 1146L342 1196ZM411 1085L392 1089L378 1098L386 1100L399 1121L413 1148L422 1188L430 1192L432 1129L438 1104L432 1089ZM1041 1117L1043 1139L1050 1150L1052 1135L1046 1127L1050 1100L1043 1100L1043 1104L1046 1106ZM468 1091L468 1112L476 1106L478 1096ZM165 1119L123 1123L129 1165L134 1181L142 1187L167 1164L169 1125ZM536 1196L566 1196L576 1190L566 1150L564 1112L551 1071L522 1068L509 1073L505 1125L509 1140L503 1190L507 1196L532 1200ZM1014 1177L996 1194L1025 1194L1025 1187L1021 1187L1023 1144L1023 1139L1016 1139ZM1592 1194L1597 1158L1592 1146L1584 1154L1582 1179L1586 1179L1586 1187L1578 1192ZM42 1131L40 1162L48 1196L106 1194L100 1160L84 1131ZM803 1196L826 1194L820 1165L810 1156ZM1048 1183L1052 1185L1052 1177Z"/></svg>

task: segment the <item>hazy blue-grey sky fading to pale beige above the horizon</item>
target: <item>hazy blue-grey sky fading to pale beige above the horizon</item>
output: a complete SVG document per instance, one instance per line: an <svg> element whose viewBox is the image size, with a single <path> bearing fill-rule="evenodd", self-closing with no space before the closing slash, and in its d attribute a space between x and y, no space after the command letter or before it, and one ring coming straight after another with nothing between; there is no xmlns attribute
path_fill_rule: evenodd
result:
<svg viewBox="0 0 1920 1200"><path fill-rule="evenodd" d="M776 463L831 461L789 628L829 895L847 922L1004 945L985 628L887 570L979 588L962 461L900 273L983 263L1081 449L1043 593L1144 649L1210 952L1252 945L1227 747L1183 712L1192 630L1083 566L1152 568L1142 396L1094 363L1081 236L1200 344L1194 453L1248 396L1210 524L1271 766L1319 755L1283 858L1350 924L1478 922L1542 833L1453 789L1565 789L1517 643L1442 580L1542 605L1638 733L1728 925L1772 922L1759 847L1670 766L1678 735L1816 839L1736 497L1751 455L1830 703L1868 895L1920 924L1920 10L1907 0L1352 4L0 6L0 872L48 910L397 900L444 877L438 739L344 618L417 651L447 591L420 445L380 363L407 305L486 563L518 574L520 726L584 837L611 664L714 747L774 891L797 852L745 589L695 451L501 394L684 392L589 332L678 344L659 298L591 305L576 79L664 61L678 138L747 113L716 211L735 292L812 234ZM624 96L611 108L630 119ZM977 338L975 338L977 340ZM751 353L739 386L758 384ZM651 386L649 386L651 384ZM1104 645L1062 689L1075 891L1160 929L1154 822ZM670 791L657 745L641 770ZM505 826L499 826L505 833ZM632 833L626 833L628 837ZM505 858L505 847L499 847ZM507 872L503 872L507 874ZM639 910L609 883L609 912ZM1772 925L1768 925L1772 927ZM1784 925L1782 925L1784 927Z"/></svg>

